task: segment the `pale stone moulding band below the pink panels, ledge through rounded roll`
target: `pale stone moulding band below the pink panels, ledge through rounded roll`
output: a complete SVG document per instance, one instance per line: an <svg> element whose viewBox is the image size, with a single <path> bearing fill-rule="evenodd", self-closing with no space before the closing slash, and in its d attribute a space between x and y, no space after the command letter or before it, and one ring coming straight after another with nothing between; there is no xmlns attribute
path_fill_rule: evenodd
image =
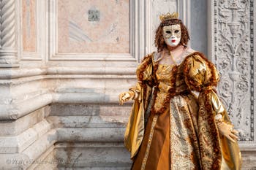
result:
<svg viewBox="0 0 256 170"><path fill-rule="evenodd" d="M45 73L36 69L37 74ZM124 74L124 71L129 74ZM32 72L24 71L31 75ZM70 69L51 68L47 75L0 80L3 98L0 99L0 119L17 120L30 112L53 103L118 104L118 93L135 85L133 69ZM12 74L13 75L13 74ZM72 81L79 82L74 84ZM120 83L118 87L115 82ZM32 87L28 89L27 87ZM7 93L6 88L10 88ZM93 87L93 88L92 88ZM20 91L18 89L24 89ZM16 91L16 89L18 91ZM5 91L5 92L4 92ZM33 103L33 104L31 104Z"/></svg>

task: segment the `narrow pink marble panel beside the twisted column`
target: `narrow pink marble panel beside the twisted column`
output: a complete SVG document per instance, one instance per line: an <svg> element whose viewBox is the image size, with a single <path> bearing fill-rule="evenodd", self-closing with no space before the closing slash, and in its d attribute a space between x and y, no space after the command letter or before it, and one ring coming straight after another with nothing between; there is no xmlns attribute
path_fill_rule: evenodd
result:
<svg viewBox="0 0 256 170"><path fill-rule="evenodd" d="M22 0L23 51L36 52L36 0Z"/></svg>

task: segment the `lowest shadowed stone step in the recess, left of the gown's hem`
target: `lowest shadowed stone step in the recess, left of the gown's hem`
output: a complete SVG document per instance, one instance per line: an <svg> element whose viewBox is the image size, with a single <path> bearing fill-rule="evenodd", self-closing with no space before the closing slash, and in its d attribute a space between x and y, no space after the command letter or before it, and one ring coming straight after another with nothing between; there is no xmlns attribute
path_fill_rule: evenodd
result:
<svg viewBox="0 0 256 170"><path fill-rule="evenodd" d="M56 159L58 168L128 168L132 163L123 142L57 143Z"/></svg>

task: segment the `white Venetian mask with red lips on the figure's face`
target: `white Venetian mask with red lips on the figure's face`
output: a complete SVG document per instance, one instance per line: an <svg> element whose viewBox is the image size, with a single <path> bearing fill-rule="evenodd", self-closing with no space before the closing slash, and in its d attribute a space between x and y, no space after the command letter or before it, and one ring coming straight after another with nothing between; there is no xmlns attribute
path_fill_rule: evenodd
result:
<svg viewBox="0 0 256 170"><path fill-rule="evenodd" d="M181 26L179 24L164 26L162 28L162 34L165 43L170 47L176 47L181 42Z"/></svg>

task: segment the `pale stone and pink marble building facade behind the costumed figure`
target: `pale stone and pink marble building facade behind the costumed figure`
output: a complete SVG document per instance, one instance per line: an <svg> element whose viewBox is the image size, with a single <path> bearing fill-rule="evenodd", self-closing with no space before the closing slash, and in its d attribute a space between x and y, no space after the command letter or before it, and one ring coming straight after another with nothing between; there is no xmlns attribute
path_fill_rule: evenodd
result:
<svg viewBox="0 0 256 170"><path fill-rule="evenodd" d="M0 1L0 169L129 169L132 103L118 93L173 11L217 65L243 169L256 169L253 0Z"/></svg>

